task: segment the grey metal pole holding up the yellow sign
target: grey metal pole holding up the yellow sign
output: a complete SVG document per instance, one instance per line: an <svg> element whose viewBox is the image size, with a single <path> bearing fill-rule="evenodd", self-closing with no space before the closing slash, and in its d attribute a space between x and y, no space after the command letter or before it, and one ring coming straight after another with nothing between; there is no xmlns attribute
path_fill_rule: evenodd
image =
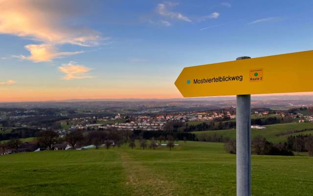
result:
<svg viewBox="0 0 313 196"><path fill-rule="evenodd" d="M237 196L251 196L251 96L237 95L236 101Z"/></svg>

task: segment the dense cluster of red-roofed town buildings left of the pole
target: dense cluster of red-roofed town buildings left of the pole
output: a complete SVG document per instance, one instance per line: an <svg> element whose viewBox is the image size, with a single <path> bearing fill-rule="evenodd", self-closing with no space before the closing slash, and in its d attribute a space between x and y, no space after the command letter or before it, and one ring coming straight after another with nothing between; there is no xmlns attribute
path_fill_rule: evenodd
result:
<svg viewBox="0 0 313 196"><path fill-rule="evenodd" d="M131 115L125 116L117 114L115 117L86 117L75 118L70 120L70 128L77 129L109 129L116 128L119 130L163 130L164 125L169 121L190 122L190 121L209 121L214 119L235 119L234 110L223 112L179 112L160 115ZM90 123L93 122L93 123ZM95 123L94 123L95 122Z"/></svg>

